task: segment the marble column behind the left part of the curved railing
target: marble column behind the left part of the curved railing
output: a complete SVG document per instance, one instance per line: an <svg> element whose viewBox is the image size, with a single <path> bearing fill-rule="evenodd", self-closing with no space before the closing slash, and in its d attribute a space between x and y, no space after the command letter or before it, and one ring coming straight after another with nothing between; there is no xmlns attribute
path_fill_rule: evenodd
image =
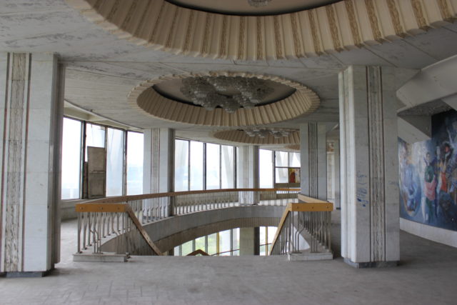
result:
<svg viewBox="0 0 457 305"><path fill-rule="evenodd" d="M174 191L174 129L144 130L143 193ZM171 215L171 199L157 202L159 218Z"/></svg>

